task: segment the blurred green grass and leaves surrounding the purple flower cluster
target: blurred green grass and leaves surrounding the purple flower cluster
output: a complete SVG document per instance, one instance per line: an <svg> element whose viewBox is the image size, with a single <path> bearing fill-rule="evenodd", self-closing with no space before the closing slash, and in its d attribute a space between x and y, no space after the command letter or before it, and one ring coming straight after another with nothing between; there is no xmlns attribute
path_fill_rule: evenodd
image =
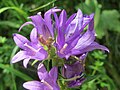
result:
<svg viewBox="0 0 120 90"><path fill-rule="evenodd" d="M96 41L110 53L95 50L86 59L87 81L70 90L120 90L120 0L0 0L0 90L24 90L25 81L38 79L36 66L24 69L22 62L10 64L19 50L12 34L28 16L44 13L57 6L70 16L80 8L84 14L95 13ZM32 26L20 32L29 37Z"/></svg>

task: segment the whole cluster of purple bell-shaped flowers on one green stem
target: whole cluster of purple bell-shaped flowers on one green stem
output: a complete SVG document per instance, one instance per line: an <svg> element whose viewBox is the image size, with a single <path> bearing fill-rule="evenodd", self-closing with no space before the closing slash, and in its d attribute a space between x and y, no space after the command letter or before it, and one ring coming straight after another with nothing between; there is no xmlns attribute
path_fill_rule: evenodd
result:
<svg viewBox="0 0 120 90"><path fill-rule="evenodd" d="M59 16L58 12L61 12ZM25 68L30 60L40 62L37 70L40 81L24 83L26 89L60 90L58 73L64 77L67 87L79 86L85 80L84 66L88 52L94 49L109 52L105 46L95 42L94 14L83 15L79 9L67 18L65 10L55 7L45 12L44 18L41 13L29 18L32 21L23 24L19 31L26 25L33 25L30 40L20 34L13 34L21 50L11 60L12 63L23 60ZM47 60L54 63L50 71L41 62Z"/></svg>

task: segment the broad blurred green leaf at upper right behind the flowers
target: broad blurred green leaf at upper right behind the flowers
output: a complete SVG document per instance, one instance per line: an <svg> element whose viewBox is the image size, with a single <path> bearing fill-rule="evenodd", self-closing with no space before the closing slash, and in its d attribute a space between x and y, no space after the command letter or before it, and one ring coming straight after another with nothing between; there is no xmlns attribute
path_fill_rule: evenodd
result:
<svg viewBox="0 0 120 90"><path fill-rule="evenodd" d="M120 33L120 14L117 10L104 10L100 16L96 33L98 38L105 35L106 30L112 30Z"/></svg>

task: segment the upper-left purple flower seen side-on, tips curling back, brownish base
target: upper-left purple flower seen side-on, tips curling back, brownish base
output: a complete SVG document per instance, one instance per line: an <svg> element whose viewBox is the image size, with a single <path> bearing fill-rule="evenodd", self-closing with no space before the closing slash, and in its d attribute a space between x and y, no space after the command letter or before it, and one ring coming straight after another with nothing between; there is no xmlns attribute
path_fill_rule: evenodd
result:
<svg viewBox="0 0 120 90"><path fill-rule="evenodd" d="M60 9L56 9L56 7L54 7L45 12L44 18L42 17L41 13L38 13L37 15L34 16L30 16L29 18L32 20L32 22L26 22L25 24L23 24L20 27L19 31L24 26L32 24L34 28L37 29L40 42L44 45L51 44L52 40L54 39L54 27L51 15L58 11L60 11Z"/></svg>

